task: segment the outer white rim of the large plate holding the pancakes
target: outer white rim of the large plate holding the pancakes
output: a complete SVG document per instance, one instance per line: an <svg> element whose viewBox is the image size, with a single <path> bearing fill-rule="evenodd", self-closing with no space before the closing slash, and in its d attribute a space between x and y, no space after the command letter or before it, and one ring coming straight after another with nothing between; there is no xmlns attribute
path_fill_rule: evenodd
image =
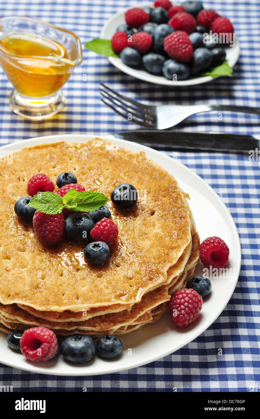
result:
<svg viewBox="0 0 260 419"><path fill-rule="evenodd" d="M113 135L113 134L112 134ZM8 150L8 151L17 151L17 150L21 150L24 147L31 147L37 144L44 144L44 143L49 143L49 142L61 142L61 141L68 141L68 142L84 142L84 141L88 141L90 139L93 139L95 137L98 137L100 139L103 140L108 140L111 141L113 143L115 143L118 146L124 147L128 150L133 150L133 151L144 151L145 153L148 154L149 158L152 158L149 156L149 154L152 154L154 156L157 155L157 157L160 156L160 158L162 158L162 160L166 159L166 160L170 160L171 163L183 168L185 171L187 171L188 174L190 174L190 176L194 176L196 178L196 180L198 182L200 182L202 184L202 186L204 188L206 188L209 193L212 195L212 193L214 194L214 196L216 195L215 191L211 188L211 186L209 186L200 176L198 176L196 173L194 173L193 171L191 171L187 166L183 165L183 163L180 163L178 161L176 161L175 159L172 159L170 156L164 155L162 153L160 153L157 150L154 150L150 147L141 145L139 143L131 143L129 141L126 140L121 140L121 139L117 139L114 138L112 136L103 136L103 135L98 135L98 134L57 134L57 135L48 135L48 136L42 136L42 137L34 137L34 138L29 138L27 140L21 140L21 141L16 141L13 143L9 143L7 145L4 145L2 147L0 147L0 152L4 151L4 150ZM160 163L159 163L160 164ZM162 164L161 164L162 166ZM163 167L163 166L162 166ZM213 321L211 321L206 328L203 328L203 330L200 330L198 333L196 332L196 328L199 326L196 326L196 328L194 328L193 330L195 331L194 336L192 338L188 338L185 341L183 341L181 344L177 345L176 347L174 347L173 349L169 350L165 350L160 352L160 354L153 354L150 357L147 357L147 360L145 360L145 362L134 362L133 364L126 365L126 366L121 366L121 367L116 367L116 361L111 362L111 367L108 370L97 370L97 371L91 371L88 372L88 366L82 366L82 365L72 365L73 368L75 368L75 371L59 371L55 369L54 367L47 367L48 362L43 362L40 367L38 367L37 365L39 365L37 362L33 363L33 362L28 362L26 361L24 363L23 366L17 365L15 363L15 361L10 362L9 360L5 360L2 358L2 353L0 351L0 362L3 363L4 365L8 365L10 367L14 367L14 368L18 368L21 370L25 370L25 371L29 371L29 372L34 372L34 373L40 373L40 374L48 374L48 375L57 375L57 376L91 376L91 375L104 375L104 374L109 374L109 373L113 373L113 372L120 372L120 371L124 371L124 370L129 370L131 368L135 368L135 367L139 367L142 365L147 365L150 362L154 362L158 359L161 359L175 351L177 351L178 349L184 347L186 344L188 344L190 341L193 341L194 339L196 339L198 336L200 336L207 328L209 328L209 326L211 326L212 323L214 323L214 321L216 320L217 317L219 317L219 315L222 313L222 311L224 310L224 308L226 307L227 303L229 302L230 298L232 297L232 294L234 292L234 289L237 285L237 280L239 277L239 272L240 272L240 266L241 266L241 245L240 245L240 240L239 240L239 235L237 232L237 228L236 225L234 223L234 220L232 218L232 215L230 214L230 212L228 211L226 205L224 204L223 201L219 200L219 205L222 207L222 209L225 212L225 215L227 216L228 221L230 222L231 226L232 226L232 233L234 234L234 239L236 241L236 246L237 246L237 274L236 274L236 278L233 281L233 286L230 288L229 294L226 296L226 298L222 301L221 304L221 308L219 310L216 311ZM145 326L144 326L145 327ZM141 329L142 330L142 329ZM199 327L198 327L199 330ZM136 332L133 332L136 333ZM2 332L0 332L0 335L5 335L7 337L6 334L3 334ZM131 336L130 335L126 335L126 336ZM124 339L124 336L122 336L122 339ZM20 354L16 354L13 351L10 351L15 355L20 355ZM61 355L59 355L61 356ZM95 358L95 357L94 357ZM55 358L54 358L55 360ZM52 361L52 360L51 360ZM49 361L49 362L51 362ZM45 365L46 365L46 369L45 369ZM66 365L66 363L64 362L64 366ZM69 364L71 365L71 364ZM114 365L114 366L113 366Z"/></svg>

